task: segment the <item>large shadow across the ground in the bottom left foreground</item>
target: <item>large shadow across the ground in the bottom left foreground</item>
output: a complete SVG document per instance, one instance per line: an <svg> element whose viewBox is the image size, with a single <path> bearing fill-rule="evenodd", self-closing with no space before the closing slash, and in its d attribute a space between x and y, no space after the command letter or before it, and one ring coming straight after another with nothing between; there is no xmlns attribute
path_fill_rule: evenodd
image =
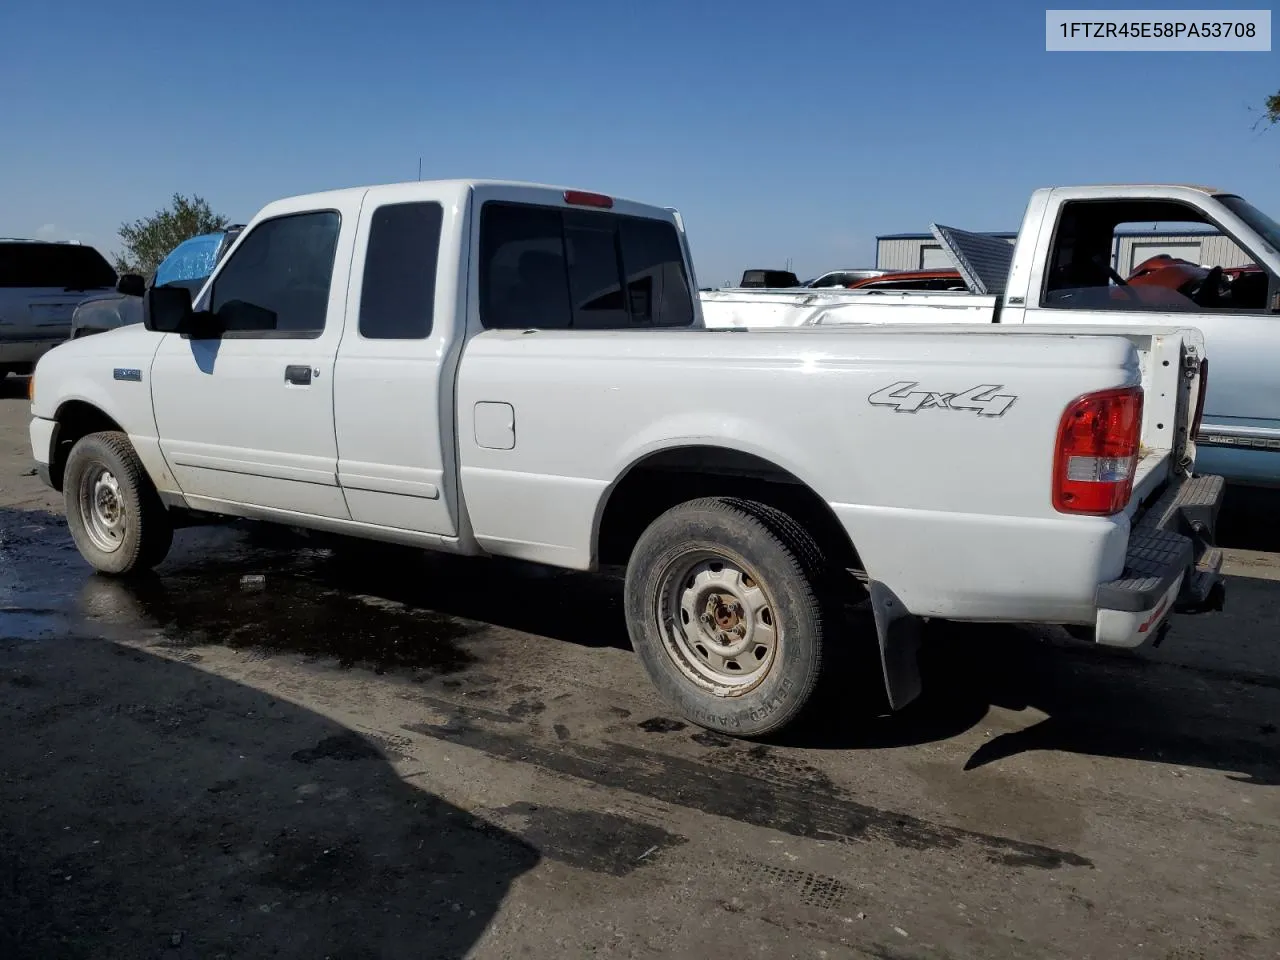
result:
<svg viewBox="0 0 1280 960"><path fill-rule="evenodd" d="M461 957L539 861L325 717L12 614L6 960Z"/></svg>

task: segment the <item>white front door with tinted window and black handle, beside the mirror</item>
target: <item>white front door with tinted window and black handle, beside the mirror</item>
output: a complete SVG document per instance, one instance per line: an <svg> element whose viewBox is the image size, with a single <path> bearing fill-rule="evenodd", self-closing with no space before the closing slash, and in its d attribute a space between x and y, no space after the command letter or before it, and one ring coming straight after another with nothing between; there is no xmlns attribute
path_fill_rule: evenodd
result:
<svg viewBox="0 0 1280 960"><path fill-rule="evenodd" d="M160 447L188 498L250 515L349 517L333 376L362 196L280 205L253 224L197 303L225 333L160 344L151 367Z"/></svg>

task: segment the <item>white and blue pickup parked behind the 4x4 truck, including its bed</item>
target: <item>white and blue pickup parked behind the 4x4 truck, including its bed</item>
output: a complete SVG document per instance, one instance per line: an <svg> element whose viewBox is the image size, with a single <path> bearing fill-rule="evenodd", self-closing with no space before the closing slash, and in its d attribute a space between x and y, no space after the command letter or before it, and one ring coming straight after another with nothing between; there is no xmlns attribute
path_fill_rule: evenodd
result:
<svg viewBox="0 0 1280 960"><path fill-rule="evenodd" d="M1162 229L1152 230L1156 224ZM1053 187L1032 195L1015 246L950 227L933 232L970 294L709 291L701 294L705 323L753 329L814 323L1194 326L1204 334L1212 365L1196 438L1198 468L1234 483L1280 486L1275 220L1212 187ZM1161 247L1166 233L1180 237ZM1126 265L1126 276L1116 273L1114 260L1138 261L1144 248L1187 248L1192 260L1166 255L1133 264L1144 270L1130 273Z"/></svg>

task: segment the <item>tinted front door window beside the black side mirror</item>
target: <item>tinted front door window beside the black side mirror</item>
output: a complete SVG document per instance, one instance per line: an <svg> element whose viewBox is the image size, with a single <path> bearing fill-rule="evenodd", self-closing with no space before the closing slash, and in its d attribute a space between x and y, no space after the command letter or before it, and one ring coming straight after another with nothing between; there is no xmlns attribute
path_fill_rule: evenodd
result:
<svg viewBox="0 0 1280 960"><path fill-rule="evenodd" d="M340 224L323 210L255 227L214 280L210 310L227 335L324 333Z"/></svg>

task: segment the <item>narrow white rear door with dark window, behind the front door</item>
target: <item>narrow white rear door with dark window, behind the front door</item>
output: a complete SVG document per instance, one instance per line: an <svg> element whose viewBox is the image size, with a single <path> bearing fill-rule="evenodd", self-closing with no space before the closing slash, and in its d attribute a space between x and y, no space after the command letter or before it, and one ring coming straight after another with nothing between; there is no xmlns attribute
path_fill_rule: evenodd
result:
<svg viewBox="0 0 1280 960"><path fill-rule="evenodd" d="M362 524L457 534L453 370L466 316L460 187L371 191L334 370L338 479Z"/></svg>

